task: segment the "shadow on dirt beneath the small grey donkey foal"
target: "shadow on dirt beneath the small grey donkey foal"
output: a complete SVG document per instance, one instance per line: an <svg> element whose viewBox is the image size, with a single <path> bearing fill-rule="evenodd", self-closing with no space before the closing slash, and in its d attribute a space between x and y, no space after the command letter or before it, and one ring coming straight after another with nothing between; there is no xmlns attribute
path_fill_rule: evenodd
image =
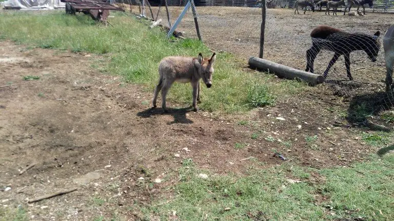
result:
<svg viewBox="0 0 394 221"><path fill-rule="evenodd" d="M186 114L192 111L192 107L184 107L184 108L168 108L168 112L164 112L162 108L149 108L143 112L137 113L137 116L143 118L149 118L154 115L172 115L174 120L172 122L168 122L167 124L191 124L192 120L186 118Z"/></svg>

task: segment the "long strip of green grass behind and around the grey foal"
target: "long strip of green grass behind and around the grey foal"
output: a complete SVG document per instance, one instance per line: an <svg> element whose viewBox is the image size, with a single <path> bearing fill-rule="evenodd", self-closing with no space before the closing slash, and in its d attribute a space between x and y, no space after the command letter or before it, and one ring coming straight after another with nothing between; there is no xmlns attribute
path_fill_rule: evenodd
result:
<svg viewBox="0 0 394 221"><path fill-rule="evenodd" d="M139 83L153 92L159 80L157 65L166 56L196 57L212 53L195 39L168 40L160 29L149 29L145 22L132 16L116 14L110 18L114 27L97 26L90 16L62 12L15 12L0 14L0 33L16 43L33 47L104 54L109 60L101 71L123 76L126 82ZM18 24L15 26L15 24ZM242 113L254 107L271 105L278 94L296 93L305 83L276 81L269 74L242 71L243 61L229 54L217 53L212 87L202 86L199 107L215 113ZM191 104L190 84L175 83L168 100ZM160 101L159 101L160 102Z"/></svg>

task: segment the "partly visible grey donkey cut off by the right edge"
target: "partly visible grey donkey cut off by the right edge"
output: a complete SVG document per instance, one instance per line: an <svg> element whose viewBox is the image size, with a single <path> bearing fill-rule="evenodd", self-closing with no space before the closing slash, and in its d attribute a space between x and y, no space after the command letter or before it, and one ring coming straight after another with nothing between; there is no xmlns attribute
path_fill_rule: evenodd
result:
<svg viewBox="0 0 394 221"><path fill-rule="evenodd" d="M392 84L392 68L394 65L394 23L388 28L383 37L384 58L386 61L386 92L394 89Z"/></svg>

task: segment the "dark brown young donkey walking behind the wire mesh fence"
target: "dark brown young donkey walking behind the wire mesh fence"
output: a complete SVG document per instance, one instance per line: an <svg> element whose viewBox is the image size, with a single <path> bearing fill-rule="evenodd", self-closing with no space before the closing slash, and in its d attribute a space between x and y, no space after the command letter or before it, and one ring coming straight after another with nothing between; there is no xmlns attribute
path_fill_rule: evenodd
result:
<svg viewBox="0 0 394 221"><path fill-rule="evenodd" d="M307 64L305 71L313 73L314 59L321 50L328 50L335 54L324 71L324 78L327 77L331 66L343 55L345 57L347 76L350 80L353 80L350 74L350 52L365 51L371 61L375 62L380 49L379 35L380 31L377 31L373 35L368 35L363 33L347 33L325 25L318 26L310 33L312 47L306 51Z"/></svg>

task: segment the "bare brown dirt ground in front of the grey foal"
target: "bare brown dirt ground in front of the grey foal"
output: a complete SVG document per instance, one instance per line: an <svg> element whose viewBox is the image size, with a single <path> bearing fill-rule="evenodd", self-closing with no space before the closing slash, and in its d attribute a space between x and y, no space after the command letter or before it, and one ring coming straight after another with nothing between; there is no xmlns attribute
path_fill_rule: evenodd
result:
<svg viewBox="0 0 394 221"><path fill-rule="evenodd" d="M185 109L166 115L160 108L151 111L146 103L151 94L91 68L99 59L0 42L0 188L11 187L0 192L0 200L9 200L2 206L22 205L31 220L111 214L132 220L139 216L132 202L168 194L162 190L178 181L176 169L185 159L226 174L283 163L272 157L272 149L316 167L346 165L375 151L360 144L358 130L332 126L338 119L321 113L331 104L307 105L313 96L304 100L308 115L293 98L253 112L245 117L247 125L238 125L235 117L213 119ZM40 79L23 80L27 75ZM258 137L252 139L253 133ZM306 143L306 135L318 136L316 146ZM254 160L243 160L249 157ZM31 163L36 165L18 174ZM89 172L100 178L93 175L85 185L75 180ZM163 182L151 183L157 177ZM74 186L75 192L27 204L27 199Z"/></svg>

